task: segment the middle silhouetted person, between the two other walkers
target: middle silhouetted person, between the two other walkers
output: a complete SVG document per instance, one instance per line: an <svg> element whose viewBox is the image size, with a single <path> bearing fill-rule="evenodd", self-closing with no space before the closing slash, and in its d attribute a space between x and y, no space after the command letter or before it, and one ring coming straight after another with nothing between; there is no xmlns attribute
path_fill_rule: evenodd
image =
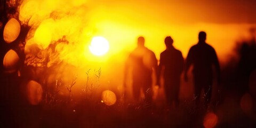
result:
<svg viewBox="0 0 256 128"><path fill-rule="evenodd" d="M163 71L164 76L164 89L168 105L179 105L179 87L180 87L180 75L183 70L184 59L182 53L175 49L173 39L167 36L164 40L166 50L160 54L160 63L158 66L157 83L159 84L159 78Z"/></svg>

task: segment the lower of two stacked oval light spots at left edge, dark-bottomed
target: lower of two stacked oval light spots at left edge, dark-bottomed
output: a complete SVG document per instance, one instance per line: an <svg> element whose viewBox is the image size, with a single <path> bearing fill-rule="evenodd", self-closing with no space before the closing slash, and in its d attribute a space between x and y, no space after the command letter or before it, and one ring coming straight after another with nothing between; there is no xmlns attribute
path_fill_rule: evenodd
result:
<svg viewBox="0 0 256 128"><path fill-rule="evenodd" d="M19 55L14 50L9 50L4 55L3 65L7 73L14 73L18 69Z"/></svg>

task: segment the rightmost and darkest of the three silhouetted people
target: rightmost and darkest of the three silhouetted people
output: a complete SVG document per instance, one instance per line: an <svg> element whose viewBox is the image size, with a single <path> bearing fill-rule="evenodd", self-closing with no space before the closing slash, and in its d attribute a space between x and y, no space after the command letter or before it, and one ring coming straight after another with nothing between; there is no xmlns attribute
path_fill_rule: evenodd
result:
<svg viewBox="0 0 256 128"><path fill-rule="evenodd" d="M218 83L220 83L220 65L217 54L213 47L205 42L206 33L200 31L199 42L192 46L188 52L185 65L185 81L188 81L187 72L191 65L193 68L196 105L199 104L201 90L205 93L205 103L210 103L213 84L213 65L217 72Z"/></svg>

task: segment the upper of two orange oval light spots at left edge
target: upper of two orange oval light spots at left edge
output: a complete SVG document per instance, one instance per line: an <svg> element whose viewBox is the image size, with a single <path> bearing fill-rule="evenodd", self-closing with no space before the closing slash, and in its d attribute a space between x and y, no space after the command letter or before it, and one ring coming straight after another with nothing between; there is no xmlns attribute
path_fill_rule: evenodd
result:
<svg viewBox="0 0 256 128"><path fill-rule="evenodd" d="M4 27L4 41L6 43L12 43L20 34L20 23L12 18Z"/></svg>

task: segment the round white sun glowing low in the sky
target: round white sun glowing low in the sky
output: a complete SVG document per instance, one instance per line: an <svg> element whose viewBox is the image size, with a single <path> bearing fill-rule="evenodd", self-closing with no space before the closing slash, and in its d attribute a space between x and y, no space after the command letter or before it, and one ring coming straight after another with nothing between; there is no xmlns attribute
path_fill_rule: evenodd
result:
<svg viewBox="0 0 256 128"><path fill-rule="evenodd" d="M109 44L106 38L96 36L92 38L92 42L89 46L89 49L92 54L100 56L108 52Z"/></svg>

